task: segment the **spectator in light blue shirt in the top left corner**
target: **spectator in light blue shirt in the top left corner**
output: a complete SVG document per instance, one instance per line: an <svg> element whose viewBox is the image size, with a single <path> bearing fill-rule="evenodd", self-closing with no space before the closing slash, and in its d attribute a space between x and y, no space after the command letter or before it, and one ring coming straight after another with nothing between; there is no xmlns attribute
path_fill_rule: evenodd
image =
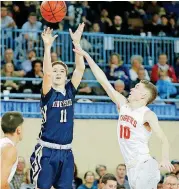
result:
<svg viewBox="0 0 179 189"><path fill-rule="evenodd" d="M7 7L2 6L1 7L1 28L9 28L13 29L16 28L16 23L12 19L12 17L7 15Z"/></svg>

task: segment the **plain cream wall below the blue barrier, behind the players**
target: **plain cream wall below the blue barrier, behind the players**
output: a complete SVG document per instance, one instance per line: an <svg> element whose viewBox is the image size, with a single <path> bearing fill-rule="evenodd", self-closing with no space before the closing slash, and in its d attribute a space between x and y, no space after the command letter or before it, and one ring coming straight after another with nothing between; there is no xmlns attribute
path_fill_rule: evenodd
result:
<svg viewBox="0 0 179 189"><path fill-rule="evenodd" d="M29 157L36 144L41 119L25 119L24 139L18 144L19 155ZM179 122L161 121L160 125L170 143L170 159L179 158ZM52 126L53 129L53 126ZM105 164L110 172L123 163L117 139L117 120L75 120L73 153L83 176L87 170L94 171L97 164ZM151 154L161 159L161 143L153 134L150 140Z"/></svg>

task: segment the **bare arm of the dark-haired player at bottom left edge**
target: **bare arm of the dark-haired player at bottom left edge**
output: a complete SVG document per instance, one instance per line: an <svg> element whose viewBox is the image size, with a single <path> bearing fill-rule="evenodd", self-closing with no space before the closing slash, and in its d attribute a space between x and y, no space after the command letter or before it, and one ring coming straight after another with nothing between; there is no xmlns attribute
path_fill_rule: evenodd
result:
<svg viewBox="0 0 179 189"><path fill-rule="evenodd" d="M8 184L8 178L12 169L13 164L17 160L17 150L12 145L7 145L1 150L1 189L10 189Z"/></svg>

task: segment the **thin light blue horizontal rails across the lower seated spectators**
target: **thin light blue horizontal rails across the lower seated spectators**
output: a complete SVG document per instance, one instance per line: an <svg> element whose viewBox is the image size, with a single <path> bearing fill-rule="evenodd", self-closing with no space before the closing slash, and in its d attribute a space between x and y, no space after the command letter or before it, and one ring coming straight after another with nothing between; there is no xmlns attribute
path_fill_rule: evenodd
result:
<svg viewBox="0 0 179 189"><path fill-rule="evenodd" d="M40 78L21 78L21 77L1 77L2 81L13 80L20 81L24 83L25 81L42 81ZM82 83L98 83L97 80L82 80ZM110 81L110 83L114 83L115 81ZM179 83L172 83L173 86L179 87ZM167 99L157 99L156 102L179 102L179 99L169 98L169 91L167 90ZM31 99L39 99L40 94L27 94L27 93L1 93L1 97L8 98L31 98ZM97 95L77 95L76 99L91 99L91 100L105 100L109 101L110 98L108 96L97 96Z"/></svg>

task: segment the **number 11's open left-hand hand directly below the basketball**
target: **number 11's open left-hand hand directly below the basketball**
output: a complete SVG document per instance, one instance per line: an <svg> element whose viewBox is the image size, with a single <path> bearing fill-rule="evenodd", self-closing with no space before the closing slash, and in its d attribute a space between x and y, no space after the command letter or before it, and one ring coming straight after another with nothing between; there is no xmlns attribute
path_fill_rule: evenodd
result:
<svg viewBox="0 0 179 189"><path fill-rule="evenodd" d="M49 27L47 29L44 29L41 36L44 42L45 46L52 46L54 40L58 35L52 36L53 29L50 29Z"/></svg>

